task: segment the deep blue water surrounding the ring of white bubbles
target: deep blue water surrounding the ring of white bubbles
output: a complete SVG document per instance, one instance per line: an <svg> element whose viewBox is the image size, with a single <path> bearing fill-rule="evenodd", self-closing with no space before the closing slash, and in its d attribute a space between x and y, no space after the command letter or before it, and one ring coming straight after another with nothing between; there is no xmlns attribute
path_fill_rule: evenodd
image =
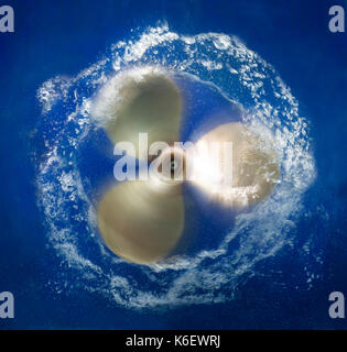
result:
<svg viewBox="0 0 347 352"><path fill-rule="evenodd" d="M0 329L347 327L346 320L329 318L327 299L334 290L347 294L347 34L332 34L327 28L328 8L337 3L347 8L346 1L7 3L15 12L15 33L0 34L0 292L14 294L15 319L0 320ZM290 241L257 262L237 285L228 283L230 299L133 309L90 290L105 285L102 280L86 287L79 279L84 268L69 267L50 242L37 205L36 179L37 161L45 152L40 133L52 124L40 122L44 118L37 89L57 75L75 77L108 56L112 44L163 22L180 34L237 35L271 64L310 124L307 140L317 176L301 195L301 210L288 219ZM85 87L80 91L87 95ZM66 118L66 107L55 109L57 120ZM57 122L57 127L62 125ZM45 132L48 140L56 133ZM83 151L78 150L85 155ZM213 224L206 222L208 228L213 234ZM82 228L76 231L84 233ZM85 257L109 271L94 252L95 240L78 241ZM126 264L117 271L118 276L132 275L138 284L148 284L145 276ZM228 296L228 285L224 296Z"/></svg>

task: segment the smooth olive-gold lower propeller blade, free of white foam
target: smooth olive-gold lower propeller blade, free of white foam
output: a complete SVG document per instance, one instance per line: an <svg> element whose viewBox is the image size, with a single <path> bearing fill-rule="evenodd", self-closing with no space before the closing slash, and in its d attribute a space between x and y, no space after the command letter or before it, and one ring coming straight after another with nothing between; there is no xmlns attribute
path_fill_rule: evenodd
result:
<svg viewBox="0 0 347 352"><path fill-rule="evenodd" d="M108 248L138 264L156 262L176 246L184 227L181 185L166 193L151 180L111 188L98 209L100 233Z"/></svg>

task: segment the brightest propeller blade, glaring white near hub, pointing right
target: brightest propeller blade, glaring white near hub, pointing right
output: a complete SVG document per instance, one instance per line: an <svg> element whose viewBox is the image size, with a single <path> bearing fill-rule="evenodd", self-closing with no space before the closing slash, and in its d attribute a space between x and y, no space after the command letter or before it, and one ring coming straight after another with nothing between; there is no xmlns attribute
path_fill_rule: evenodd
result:
<svg viewBox="0 0 347 352"><path fill-rule="evenodd" d="M280 179L276 155L263 144L239 122L221 124L187 151L187 172L212 197L227 206L247 208L271 194Z"/></svg>

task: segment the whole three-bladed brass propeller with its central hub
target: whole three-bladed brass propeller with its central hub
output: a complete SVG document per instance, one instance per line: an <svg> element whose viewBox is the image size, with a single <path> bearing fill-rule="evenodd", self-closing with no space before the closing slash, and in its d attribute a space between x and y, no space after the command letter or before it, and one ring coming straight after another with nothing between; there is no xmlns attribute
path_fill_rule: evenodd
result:
<svg viewBox="0 0 347 352"><path fill-rule="evenodd" d="M217 127L194 150L173 147L172 143L178 141L182 98L176 85L164 74L149 73L139 81L128 77L119 99L117 119L107 125L113 143L132 142L137 151L132 156L139 160L148 158L139 148L141 132L148 133L149 145L158 141L171 145L152 163L154 168L148 180L120 183L99 202L100 233L108 248L127 261L154 263L176 248L184 229L184 180L239 209L263 199L278 183L280 169L274 152L260 147L261 141L241 123ZM220 168L227 162L226 154L221 148L210 154L210 142L232 143L230 179L223 178ZM204 144L207 150L199 148ZM219 166L216 160L221 161Z"/></svg>

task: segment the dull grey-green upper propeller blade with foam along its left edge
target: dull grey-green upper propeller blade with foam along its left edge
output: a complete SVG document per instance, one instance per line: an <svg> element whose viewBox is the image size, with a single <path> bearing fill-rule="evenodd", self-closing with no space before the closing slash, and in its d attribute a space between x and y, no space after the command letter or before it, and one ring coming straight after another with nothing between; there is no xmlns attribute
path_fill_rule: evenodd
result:
<svg viewBox="0 0 347 352"><path fill-rule="evenodd" d="M141 80L129 76L120 89L116 119L106 129L116 144L127 141L135 146L135 156L147 158L148 152L139 147L139 133L148 133L148 142L178 141L182 98L172 79L150 72Z"/></svg>

